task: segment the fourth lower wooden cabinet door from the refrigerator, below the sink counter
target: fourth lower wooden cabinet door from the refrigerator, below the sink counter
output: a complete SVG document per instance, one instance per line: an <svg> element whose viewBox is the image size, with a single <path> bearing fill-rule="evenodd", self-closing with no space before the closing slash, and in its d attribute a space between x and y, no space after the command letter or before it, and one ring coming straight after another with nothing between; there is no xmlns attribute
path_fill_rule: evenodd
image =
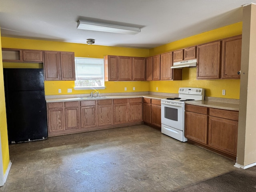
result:
<svg viewBox="0 0 256 192"><path fill-rule="evenodd" d="M112 99L98 100L98 125L113 124Z"/></svg>

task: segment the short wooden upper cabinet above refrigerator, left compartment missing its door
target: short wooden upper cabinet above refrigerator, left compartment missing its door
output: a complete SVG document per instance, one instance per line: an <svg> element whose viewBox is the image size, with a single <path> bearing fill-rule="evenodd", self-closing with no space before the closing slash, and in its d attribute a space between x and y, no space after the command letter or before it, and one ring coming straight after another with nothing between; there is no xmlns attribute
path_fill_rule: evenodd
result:
<svg viewBox="0 0 256 192"><path fill-rule="evenodd" d="M2 48L2 59L3 62L44 62L42 50Z"/></svg>

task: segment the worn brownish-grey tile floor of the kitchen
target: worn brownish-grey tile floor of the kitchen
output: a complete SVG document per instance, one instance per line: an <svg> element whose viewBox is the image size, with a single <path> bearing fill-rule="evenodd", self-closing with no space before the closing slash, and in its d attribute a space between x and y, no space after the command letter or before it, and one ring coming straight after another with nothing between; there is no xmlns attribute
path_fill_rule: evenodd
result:
<svg viewBox="0 0 256 192"><path fill-rule="evenodd" d="M0 192L169 192L236 169L146 125L10 145Z"/></svg>

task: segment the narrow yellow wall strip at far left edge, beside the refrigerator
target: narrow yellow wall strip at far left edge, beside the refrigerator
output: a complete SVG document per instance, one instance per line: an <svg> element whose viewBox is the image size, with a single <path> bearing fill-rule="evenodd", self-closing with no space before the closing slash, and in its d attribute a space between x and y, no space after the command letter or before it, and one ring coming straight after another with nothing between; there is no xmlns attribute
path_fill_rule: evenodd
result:
<svg viewBox="0 0 256 192"><path fill-rule="evenodd" d="M1 39L0 39L0 48L2 49ZM10 162L10 156L9 156L7 122L6 122L2 52L0 52L0 133L1 133L2 157L3 157L3 169L5 174L8 168L8 164Z"/></svg>

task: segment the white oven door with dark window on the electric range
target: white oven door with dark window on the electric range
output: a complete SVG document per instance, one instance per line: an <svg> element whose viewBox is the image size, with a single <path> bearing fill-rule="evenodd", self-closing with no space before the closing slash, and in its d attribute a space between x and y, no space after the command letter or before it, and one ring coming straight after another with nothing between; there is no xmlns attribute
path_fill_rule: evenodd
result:
<svg viewBox="0 0 256 192"><path fill-rule="evenodd" d="M184 130L184 104L161 103L161 123Z"/></svg>

